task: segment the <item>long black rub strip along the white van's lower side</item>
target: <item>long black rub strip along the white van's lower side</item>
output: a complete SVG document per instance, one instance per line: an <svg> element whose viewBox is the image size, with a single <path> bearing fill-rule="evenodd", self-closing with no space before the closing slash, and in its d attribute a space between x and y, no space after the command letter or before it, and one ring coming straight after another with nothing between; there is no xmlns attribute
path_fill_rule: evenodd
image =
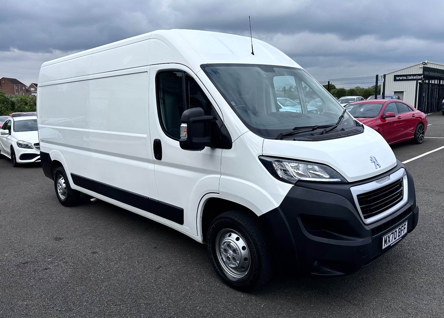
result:
<svg viewBox="0 0 444 318"><path fill-rule="evenodd" d="M150 212L175 223L183 224L182 208L121 188L116 188L112 185L107 185L99 181L82 177L75 173L71 173L71 178L74 184L79 187L99 193L110 199L131 205L132 207L141 209L143 211Z"/></svg>

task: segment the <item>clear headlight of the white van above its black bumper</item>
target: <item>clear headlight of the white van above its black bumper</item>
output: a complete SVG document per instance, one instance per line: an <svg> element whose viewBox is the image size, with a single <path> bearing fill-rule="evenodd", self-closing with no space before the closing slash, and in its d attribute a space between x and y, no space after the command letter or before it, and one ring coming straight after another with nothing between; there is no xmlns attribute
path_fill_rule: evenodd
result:
<svg viewBox="0 0 444 318"><path fill-rule="evenodd" d="M277 179L294 184L299 180L347 182L335 170L318 163L259 156L259 160Z"/></svg>

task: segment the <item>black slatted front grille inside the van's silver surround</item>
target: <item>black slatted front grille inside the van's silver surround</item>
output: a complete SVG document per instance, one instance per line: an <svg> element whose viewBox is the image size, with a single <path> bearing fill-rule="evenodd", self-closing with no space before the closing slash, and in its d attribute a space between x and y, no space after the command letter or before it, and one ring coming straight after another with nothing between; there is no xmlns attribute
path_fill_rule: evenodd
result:
<svg viewBox="0 0 444 318"><path fill-rule="evenodd" d="M404 197L403 179L376 190L357 195L364 219L376 216L398 204Z"/></svg>

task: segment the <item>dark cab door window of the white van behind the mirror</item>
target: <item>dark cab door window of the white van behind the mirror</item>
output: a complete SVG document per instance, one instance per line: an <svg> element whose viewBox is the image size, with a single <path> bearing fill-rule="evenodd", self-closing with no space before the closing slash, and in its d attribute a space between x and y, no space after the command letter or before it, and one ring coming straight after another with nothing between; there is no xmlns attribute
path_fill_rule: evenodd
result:
<svg viewBox="0 0 444 318"><path fill-rule="evenodd" d="M160 124L166 135L173 139L180 139L180 118L184 110L200 107L206 115L211 115L210 100L186 72L159 72L156 90Z"/></svg>

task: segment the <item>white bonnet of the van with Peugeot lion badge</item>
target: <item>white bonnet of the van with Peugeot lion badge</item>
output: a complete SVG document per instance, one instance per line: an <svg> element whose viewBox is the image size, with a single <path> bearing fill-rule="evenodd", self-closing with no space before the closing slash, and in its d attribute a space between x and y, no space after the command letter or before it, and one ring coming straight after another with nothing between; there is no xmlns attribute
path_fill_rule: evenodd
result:
<svg viewBox="0 0 444 318"><path fill-rule="evenodd" d="M389 144L375 130L365 126L364 132L326 141L264 140L265 156L293 158L328 165L349 182L367 179L396 166ZM381 168L375 169L370 156Z"/></svg>

